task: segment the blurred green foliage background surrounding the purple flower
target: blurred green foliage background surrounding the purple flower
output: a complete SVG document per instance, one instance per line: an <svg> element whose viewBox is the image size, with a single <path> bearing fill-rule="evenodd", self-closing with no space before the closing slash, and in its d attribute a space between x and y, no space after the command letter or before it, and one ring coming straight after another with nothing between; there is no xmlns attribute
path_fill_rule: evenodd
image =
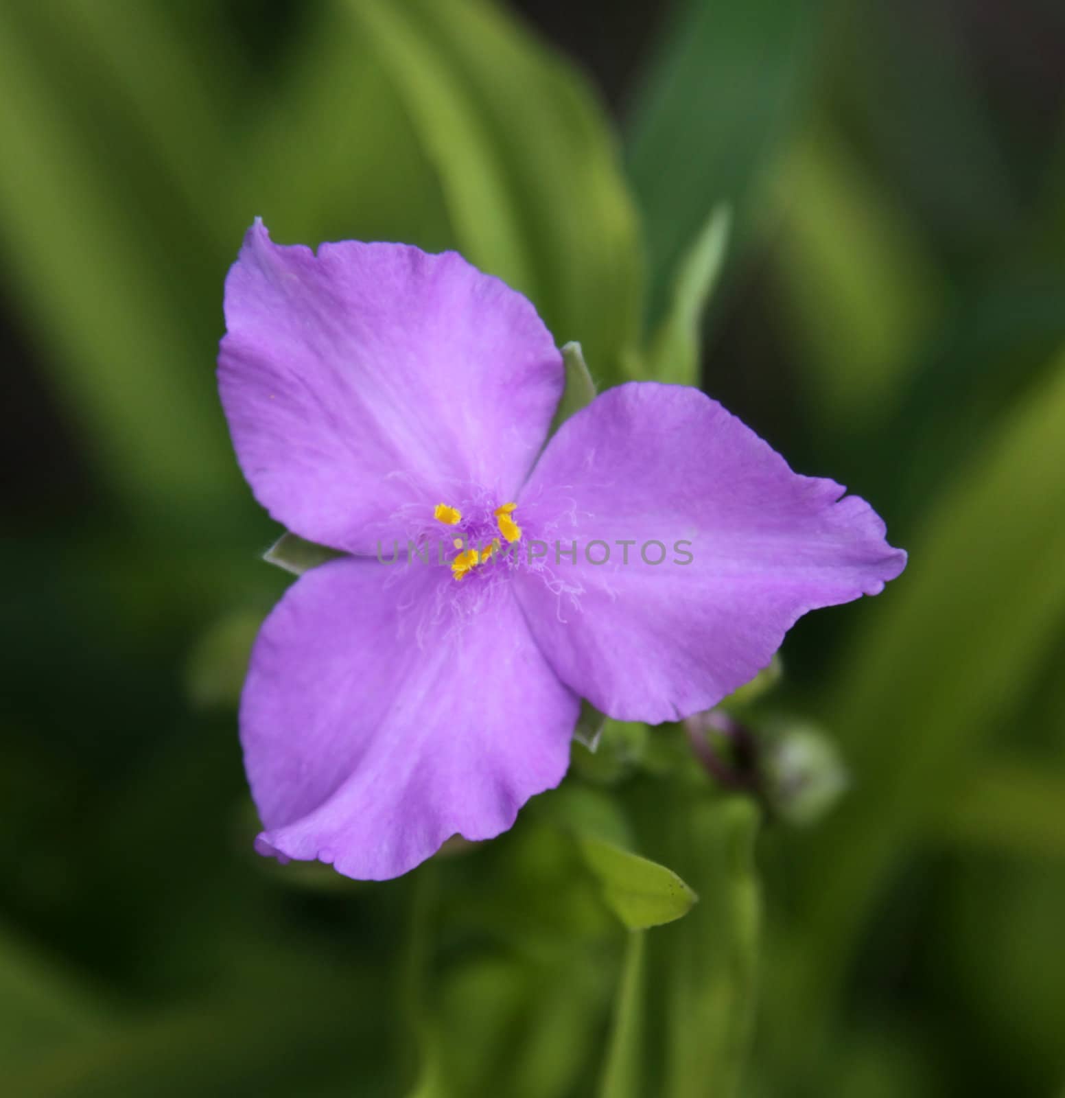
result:
<svg viewBox="0 0 1065 1098"><path fill-rule="evenodd" d="M767 703L834 811L608 728L565 811L702 897L646 932L559 808L384 885L251 854L288 578L213 369L256 215L456 247L601 385L702 369L873 502L909 570ZM4 1094L1060 1098L1058 0L0 0L0 244Z"/></svg>

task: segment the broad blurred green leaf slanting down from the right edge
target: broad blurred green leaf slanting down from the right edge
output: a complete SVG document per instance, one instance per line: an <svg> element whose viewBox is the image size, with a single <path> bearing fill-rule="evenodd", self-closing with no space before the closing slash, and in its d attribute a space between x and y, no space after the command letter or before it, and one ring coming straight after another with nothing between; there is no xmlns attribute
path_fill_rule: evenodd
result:
<svg viewBox="0 0 1065 1098"><path fill-rule="evenodd" d="M1065 623L1063 423L1065 357L933 501L907 572L862 607L866 628L832 679L828 724L861 794L807 840L795 948L770 995L776 1024L805 1017L815 1045L877 896ZM807 1045L777 1032L780 1071L800 1071Z"/></svg>

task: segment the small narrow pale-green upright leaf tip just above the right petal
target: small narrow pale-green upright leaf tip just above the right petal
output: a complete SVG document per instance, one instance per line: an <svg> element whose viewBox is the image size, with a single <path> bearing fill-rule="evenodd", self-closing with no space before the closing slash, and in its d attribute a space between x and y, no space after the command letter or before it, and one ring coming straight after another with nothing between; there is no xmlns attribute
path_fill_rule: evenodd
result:
<svg viewBox="0 0 1065 1098"><path fill-rule="evenodd" d="M718 206L681 261L669 312L648 354L648 372L655 381L699 383L703 314L725 265L731 223L729 208Z"/></svg>

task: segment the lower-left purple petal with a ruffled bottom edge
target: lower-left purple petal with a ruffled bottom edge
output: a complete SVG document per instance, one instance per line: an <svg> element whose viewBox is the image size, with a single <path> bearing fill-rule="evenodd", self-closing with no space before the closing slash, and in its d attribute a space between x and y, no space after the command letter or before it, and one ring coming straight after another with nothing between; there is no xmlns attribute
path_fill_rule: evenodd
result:
<svg viewBox="0 0 1065 1098"><path fill-rule="evenodd" d="M561 781L578 708L509 584L323 564L267 618L240 703L257 849L378 881L490 839Z"/></svg>

